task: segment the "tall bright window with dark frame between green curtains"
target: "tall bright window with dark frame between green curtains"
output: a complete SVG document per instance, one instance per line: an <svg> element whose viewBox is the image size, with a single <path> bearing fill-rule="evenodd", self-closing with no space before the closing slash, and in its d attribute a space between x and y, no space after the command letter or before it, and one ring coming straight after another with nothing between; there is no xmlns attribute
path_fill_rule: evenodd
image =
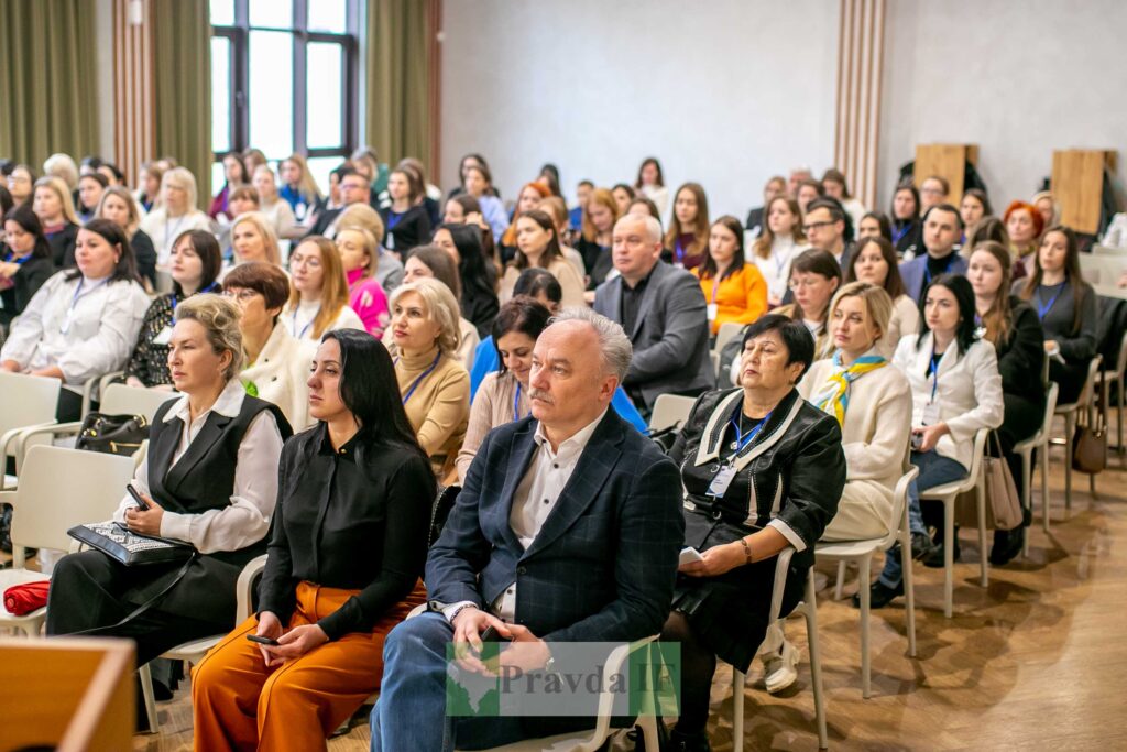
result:
<svg viewBox="0 0 1127 752"><path fill-rule="evenodd" d="M357 0L211 0L213 174L249 147L328 172L358 142Z"/></svg>

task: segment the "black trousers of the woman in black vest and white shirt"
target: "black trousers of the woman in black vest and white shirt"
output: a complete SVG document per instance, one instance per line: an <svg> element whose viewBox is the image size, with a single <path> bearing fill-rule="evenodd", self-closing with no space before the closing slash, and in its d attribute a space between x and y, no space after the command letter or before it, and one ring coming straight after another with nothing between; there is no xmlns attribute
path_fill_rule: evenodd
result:
<svg viewBox="0 0 1127 752"><path fill-rule="evenodd" d="M163 566L156 566L165 572ZM152 573L150 567L126 567L101 551L64 556L51 576L47 635L81 632L91 637L132 639L136 643L137 665L141 666L181 643L231 630L230 621L215 623L166 613L160 610L160 603L118 626L141 605L123 596L149 581Z"/></svg>

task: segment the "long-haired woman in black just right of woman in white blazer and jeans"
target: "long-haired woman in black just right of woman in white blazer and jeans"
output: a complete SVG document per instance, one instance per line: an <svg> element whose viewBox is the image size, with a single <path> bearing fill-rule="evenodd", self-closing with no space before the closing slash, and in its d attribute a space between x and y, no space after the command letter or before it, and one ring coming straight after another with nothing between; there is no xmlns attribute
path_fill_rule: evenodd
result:
<svg viewBox="0 0 1127 752"><path fill-rule="evenodd" d="M975 324L983 339L994 345L1002 375L1005 418L997 428L1002 455L1020 496L1024 478L1021 457L1013 446L1037 433L1045 415L1045 331L1037 312L1010 293L1010 250L997 242L982 242L970 255L967 280L975 291ZM1047 458L1041 458L1047 461ZM1024 515L1029 524L1030 513ZM991 564L1005 564L1021 550L1021 527L995 530Z"/></svg>

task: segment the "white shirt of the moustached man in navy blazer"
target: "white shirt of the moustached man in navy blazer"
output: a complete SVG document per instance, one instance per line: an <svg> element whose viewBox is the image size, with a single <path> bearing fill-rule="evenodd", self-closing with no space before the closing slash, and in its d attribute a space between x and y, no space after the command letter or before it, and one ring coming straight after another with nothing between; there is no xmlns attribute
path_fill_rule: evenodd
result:
<svg viewBox="0 0 1127 752"><path fill-rule="evenodd" d="M527 471L513 492L513 506L508 513L508 524L525 550L535 540L540 529L544 527L544 521L556 508L556 502L571 479L583 450L587 448L587 442L605 415L604 409L574 436L560 442L557 451L552 451L552 444L544 433L544 425L536 424L536 432L532 436L536 449L532 452L532 462ZM443 613L447 619L453 619L454 614L468 604L472 605L469 601L452 603L443 609ZM502 621L513 621L516 616L515 581L494 601L490 611Z"/></svg>

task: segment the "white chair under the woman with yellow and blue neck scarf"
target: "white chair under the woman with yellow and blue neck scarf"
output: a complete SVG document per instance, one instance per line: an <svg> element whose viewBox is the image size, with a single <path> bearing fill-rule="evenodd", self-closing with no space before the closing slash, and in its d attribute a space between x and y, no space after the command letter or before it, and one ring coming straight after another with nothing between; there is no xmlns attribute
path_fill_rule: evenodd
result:
<svg viewBox="0 0 1127 752"><path fill-rule="evenodd" d="M869 598L870 567L872 555L878 550L887 551L897 541L900 543L900 563L904 567L904 594L907 601L908 655L915 657L915 591L912 584L912 531L908 529L908 484L920 475L920 468L913 467L897 483L893 492L893 514L889 519L888 534L884 538L868 540L819 542L814 549L818 561L837 563L837 598L841 599L842 575L845 564L855 561L859 569L858 583L861 598L861 697L869 699L870 675L872 673L869 656Z"/></svg>

